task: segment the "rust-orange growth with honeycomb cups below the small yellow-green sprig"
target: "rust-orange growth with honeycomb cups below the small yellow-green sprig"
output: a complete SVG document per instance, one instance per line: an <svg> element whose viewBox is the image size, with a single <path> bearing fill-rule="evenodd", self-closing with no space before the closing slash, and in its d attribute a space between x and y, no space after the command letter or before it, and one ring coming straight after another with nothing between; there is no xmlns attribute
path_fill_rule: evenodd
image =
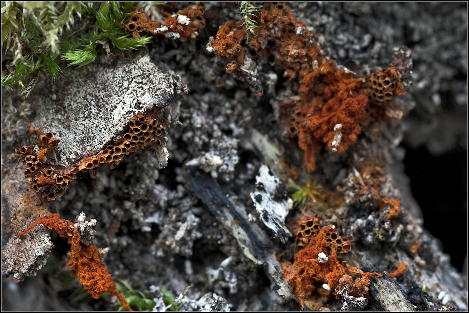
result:
<svg viewBox="0 0 469 313"><path fill-rule="evenodd" d="M334 294L342 300L344 292L366 298L370 278L383 276L376 272L363 272L348 267L345 261L341 262L339 259L350 252L352 241L339 237L334 226L322 226L316 214L300 216L290 229L296 235L300 250L295 253L293 263L282 263L282 270L302 306L312 306L317 310ZM357 278L353 280L350 275Z"/></svg>

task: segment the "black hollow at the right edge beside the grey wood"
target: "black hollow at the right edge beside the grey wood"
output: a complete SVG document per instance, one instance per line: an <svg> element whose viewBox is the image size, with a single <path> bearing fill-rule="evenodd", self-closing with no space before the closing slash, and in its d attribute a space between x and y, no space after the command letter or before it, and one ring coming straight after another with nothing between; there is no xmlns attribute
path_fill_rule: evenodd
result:
<svg viewBox="0 0 469 313"><path fill-rule="evenodd" d="M425 146L403 147L405 173L422 209L424 227L441 241L451 264L462 270L468 251L467 150L456 148L433 156Z"/></svg>

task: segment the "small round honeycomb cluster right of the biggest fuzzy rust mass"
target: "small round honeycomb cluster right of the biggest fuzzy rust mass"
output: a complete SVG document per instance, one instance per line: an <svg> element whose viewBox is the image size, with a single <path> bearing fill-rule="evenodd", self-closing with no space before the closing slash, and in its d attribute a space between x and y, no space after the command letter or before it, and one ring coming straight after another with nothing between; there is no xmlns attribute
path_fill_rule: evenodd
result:
<svg viewBox="0 0 469 313"><path fill-rule="evenodd" d="M405 94L402 91L396 70L393 68L374 71L368 80L371 87L370 97L377 103L388 102L395 95Z"/></svg>

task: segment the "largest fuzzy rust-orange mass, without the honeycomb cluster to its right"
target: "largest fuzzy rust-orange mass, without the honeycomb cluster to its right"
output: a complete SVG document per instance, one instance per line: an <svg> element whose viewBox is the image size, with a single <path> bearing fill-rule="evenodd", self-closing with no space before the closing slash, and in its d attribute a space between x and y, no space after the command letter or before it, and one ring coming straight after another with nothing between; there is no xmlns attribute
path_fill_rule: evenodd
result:
<svg viewBox="0 0 469 313"><path fill-rule="evenodd" d="M368 104L362 83L350 72L335 69L333 61L303 78L301 100L291 110L290 121L295 129L291 135L298 134L309 172L314 170L314 154L322 143L340 153L356 141Z"/></svg>

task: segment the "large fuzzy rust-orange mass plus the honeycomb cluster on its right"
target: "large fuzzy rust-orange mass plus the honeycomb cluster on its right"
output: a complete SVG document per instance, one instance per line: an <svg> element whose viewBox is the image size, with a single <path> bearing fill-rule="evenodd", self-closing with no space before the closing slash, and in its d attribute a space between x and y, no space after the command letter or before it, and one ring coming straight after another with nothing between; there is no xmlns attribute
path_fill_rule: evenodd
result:
<svg viewBox="0 0 469 313"><path fill-rule="evenodd" d="M368 79L353 78L352 72L336 69L334 61L323 59L317 70L303 78L299 100L282 103L281 118L288 136L298 138L312 172L315 153L324 143L331 151L341 153L357 140L363 127L375 121L387 122L389 114L400 117L400 111L392 112L394 107L389 103L403 94L393 68L378 70Z"/></svg>

